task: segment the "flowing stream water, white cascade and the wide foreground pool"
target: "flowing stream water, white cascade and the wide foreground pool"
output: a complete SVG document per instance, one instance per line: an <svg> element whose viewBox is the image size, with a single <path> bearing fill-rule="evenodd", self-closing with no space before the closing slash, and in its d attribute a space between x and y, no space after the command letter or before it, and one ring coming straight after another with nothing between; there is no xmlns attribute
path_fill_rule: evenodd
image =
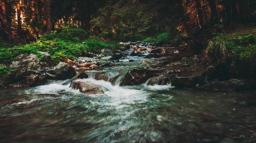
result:
<svg viewBox="0 0 256 143"><path fill-rule="evenodd" d="M154 62L155 63L155 62ZM148 61L87 71L104 94L84 95L71 80L0 90L1 143L256 143L252 93L180 90L170 85L119 87Z"/></svg>

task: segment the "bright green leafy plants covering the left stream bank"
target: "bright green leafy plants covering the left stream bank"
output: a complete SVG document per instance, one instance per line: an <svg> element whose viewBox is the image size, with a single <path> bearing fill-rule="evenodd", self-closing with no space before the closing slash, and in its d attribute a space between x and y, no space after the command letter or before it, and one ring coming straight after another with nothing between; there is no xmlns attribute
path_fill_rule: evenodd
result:
<svg viewBox="0 0 256 143"><path fill-rule="evenodd" d="M68 34L68 31L71 34ZM53 31L36 43L18 45L14 48L0 48L0 64L10 64L16 56L24 53L34 53L39 59L42 59L43 55L38 52L48 52L53 61L58 62L66 58L76 59L77 56L82 56L87 52L99 53L101 49L115 49L120 46L117 42L109 42L93 36L80 40L78 37L82 36L83 31L81 29L64 28L63 32L56 33Z"/></svg>

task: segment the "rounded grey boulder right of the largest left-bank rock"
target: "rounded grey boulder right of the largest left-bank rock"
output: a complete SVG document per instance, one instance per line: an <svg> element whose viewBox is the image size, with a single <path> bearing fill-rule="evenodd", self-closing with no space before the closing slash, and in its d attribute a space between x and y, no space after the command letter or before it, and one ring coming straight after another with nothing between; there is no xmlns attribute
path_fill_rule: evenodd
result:
<svg viewBox="0 0 256 143"><path fill-rule="evenodd" d="M64 62L59 62L53 71L56 75L56 79L58 80L72 79L76 76L75 68Z"/></svg>

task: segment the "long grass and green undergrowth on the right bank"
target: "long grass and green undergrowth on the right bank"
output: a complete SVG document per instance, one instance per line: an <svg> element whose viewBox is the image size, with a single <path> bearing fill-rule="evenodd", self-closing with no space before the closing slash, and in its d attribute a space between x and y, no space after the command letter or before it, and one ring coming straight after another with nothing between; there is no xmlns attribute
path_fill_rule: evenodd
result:
<svg viewBox="0 0 256 143"><path fill-rule="evenodd" d="M204 50L207 64L226 63L230 72L253 76L256 69L256 29L243 27L215 35Z"/></svg>

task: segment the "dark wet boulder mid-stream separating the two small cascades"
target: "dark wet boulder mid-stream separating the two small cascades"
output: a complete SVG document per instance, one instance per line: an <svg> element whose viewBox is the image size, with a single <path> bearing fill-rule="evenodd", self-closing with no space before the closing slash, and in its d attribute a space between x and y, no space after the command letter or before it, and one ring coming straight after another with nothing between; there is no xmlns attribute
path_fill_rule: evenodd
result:
<svg viewBox="0 0 256 143"><path fill-rule="evenodd" d="M148 69L130 70L128 71L128 73L126 73L125 77L122 79L120 86L143 84L145 83L145 81L147 81L148 79L154 76L159 76L156 70L148 70Z"/></svg>

